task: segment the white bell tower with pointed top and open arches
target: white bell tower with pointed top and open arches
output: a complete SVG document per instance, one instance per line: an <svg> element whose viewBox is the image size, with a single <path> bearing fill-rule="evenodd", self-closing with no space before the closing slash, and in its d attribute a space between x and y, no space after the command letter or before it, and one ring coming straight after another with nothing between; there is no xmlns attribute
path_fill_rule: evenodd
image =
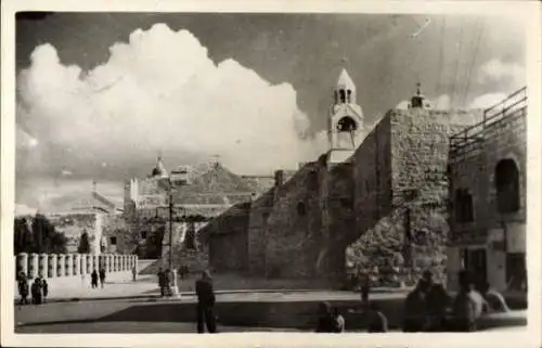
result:
<svg viewBox="0 0 542 348"><path fill-rule="evenodd" d="M357 103L356 85L343 69L333 92L333 105L327 121L328 163L343 163L361 142L363 112Z"/></svg>

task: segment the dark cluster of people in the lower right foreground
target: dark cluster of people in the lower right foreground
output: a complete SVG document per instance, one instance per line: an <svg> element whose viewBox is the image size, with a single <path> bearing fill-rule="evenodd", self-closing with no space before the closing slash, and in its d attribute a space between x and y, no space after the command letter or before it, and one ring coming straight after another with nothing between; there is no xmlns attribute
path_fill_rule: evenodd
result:
<svg viewBox="0 0 542 348"><path fill-rule="evenodd" d="M362 314L367 332L387 332L386 315L376 302L369 301L367 284L366 279L362 280L362 309L349 312ZM488 284L475 286L468 271L460 272L459 285L459 292L451 296L442 284L434 282L430 271L424 272L416 287L406 296L403 332L473 332L477 330L477 322L485 312L508 310L501 294L490 291ZM315 332L345 331L345 318L338 308L332 308L327 302L320 304L318 318Z"/></svg>

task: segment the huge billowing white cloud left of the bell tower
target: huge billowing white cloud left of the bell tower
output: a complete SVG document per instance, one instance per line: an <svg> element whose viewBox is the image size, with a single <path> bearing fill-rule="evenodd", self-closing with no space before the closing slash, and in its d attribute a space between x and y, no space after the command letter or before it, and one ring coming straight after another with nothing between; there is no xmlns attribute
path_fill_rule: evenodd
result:
<svg viewBox="0 0 542 348"><path fill-rule="evenodd" d="M291 85L272 86L231 59L215 64L186 30L157 24L109 50L106 63L83 72L42 44L18 76L17 120L39 146L63 149L63 168L72 157L126 163L168 151L270 172L322 150L299 137L309 120Z"/></svg>

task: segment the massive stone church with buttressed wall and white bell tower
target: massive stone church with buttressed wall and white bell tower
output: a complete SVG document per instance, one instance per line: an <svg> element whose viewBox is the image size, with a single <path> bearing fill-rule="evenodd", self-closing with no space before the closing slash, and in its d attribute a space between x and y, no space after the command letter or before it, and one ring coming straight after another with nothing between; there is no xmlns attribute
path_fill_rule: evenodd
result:
<svg viewBox="0 0 542 348"><path fill-rule="evenodd" d="M420 91L363 138L356 85L340 73L327 114L328 150L214 219L209 266L254 276L344 284L347 267L443 276L449 137L481 112L434 109Z"/></svg>

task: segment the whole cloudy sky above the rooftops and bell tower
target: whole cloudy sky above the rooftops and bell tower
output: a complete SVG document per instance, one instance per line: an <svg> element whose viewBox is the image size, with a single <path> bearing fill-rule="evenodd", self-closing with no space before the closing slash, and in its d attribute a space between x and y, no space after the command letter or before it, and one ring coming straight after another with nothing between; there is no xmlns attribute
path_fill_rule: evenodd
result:
<svg viewBox="0 0 542 348"><path fill-rule="evenodd" d="M296 168L325 151L340 69L370 129L420 81L439 108L483 107L525 86L513 17L376 14L18 15L16 203L63 209L92 180L221 162Z"/></svg>

